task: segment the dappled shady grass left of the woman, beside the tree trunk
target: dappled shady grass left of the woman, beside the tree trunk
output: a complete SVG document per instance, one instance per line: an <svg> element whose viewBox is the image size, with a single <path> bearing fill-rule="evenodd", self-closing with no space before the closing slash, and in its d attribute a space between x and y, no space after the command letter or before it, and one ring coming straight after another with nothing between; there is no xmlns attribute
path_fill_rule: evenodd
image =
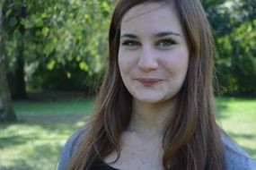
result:
<svg viewBox="0 0 256 170"><path fill-rule="evenodd" d="M17 123L0 124L1 170L53 170L66 139L92 113L92 100L17 102Z"/></svg>

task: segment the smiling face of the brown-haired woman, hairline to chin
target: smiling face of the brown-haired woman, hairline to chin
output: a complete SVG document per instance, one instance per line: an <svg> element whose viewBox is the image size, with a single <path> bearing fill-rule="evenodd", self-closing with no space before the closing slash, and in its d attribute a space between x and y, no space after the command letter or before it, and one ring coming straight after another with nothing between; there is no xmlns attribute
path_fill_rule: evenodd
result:
<svg viewBox="0 0 256 170"><path fill-rule="evenodd" d="M139 4L121 21L119 70L134 99L172 101L184 82L189 47L175 5Z"/></svg>

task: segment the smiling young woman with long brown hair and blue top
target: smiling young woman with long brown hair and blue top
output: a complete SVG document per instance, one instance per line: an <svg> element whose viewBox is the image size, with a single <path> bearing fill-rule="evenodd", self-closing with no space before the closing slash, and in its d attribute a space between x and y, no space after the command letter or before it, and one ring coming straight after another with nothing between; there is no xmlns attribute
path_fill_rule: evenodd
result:
<svg viewBox="0 0 256 170"><path fill-rule="evenodd" d="M216 124L213 52L199 0L120 0L96 114L58 169L256 169Z"/></svg>

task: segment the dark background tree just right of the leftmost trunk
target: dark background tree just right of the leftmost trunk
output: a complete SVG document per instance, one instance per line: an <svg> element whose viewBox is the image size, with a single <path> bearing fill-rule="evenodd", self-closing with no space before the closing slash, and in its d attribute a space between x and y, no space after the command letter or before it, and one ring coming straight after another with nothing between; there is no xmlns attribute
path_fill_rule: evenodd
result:
<svg viewBox="0 0 256 170"><path fill-rule="evenodd" d="M13 98L26 98L27 93L24 81L24 35L25 28L21 21L26 17L25 0L13 1L4 0L3 3L3 27L6 33L5 38L13 39L13 54L7 58L15 58L13 72L9 73L9 83L12 85ZM6 14L8 13L8 14Z"/></svg>

